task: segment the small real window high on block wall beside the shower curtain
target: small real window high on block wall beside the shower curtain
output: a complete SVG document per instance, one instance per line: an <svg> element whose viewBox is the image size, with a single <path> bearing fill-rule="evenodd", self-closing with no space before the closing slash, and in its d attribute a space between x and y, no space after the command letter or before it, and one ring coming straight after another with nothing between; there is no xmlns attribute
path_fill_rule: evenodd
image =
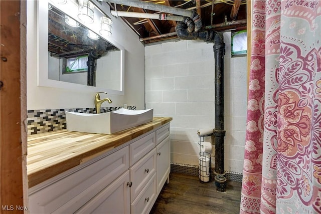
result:
<svg viewBox="0 0 321 214"><path fill-rule="evenodd" d="M232 57L246 56L247 52L247 33L246 30L232 32Z"/></svg>

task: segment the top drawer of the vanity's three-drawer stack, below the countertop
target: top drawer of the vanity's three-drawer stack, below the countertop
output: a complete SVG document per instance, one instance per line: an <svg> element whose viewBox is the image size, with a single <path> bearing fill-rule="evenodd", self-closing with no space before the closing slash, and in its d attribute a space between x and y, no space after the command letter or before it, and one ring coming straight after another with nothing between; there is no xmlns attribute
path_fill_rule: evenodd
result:
<svg viewBox="0 0 321 214"><path fill-rule="evenodd" d="M155 147L155 133L150 133L147 136L140 138L139 140L129 145L129 165L132 166L151 149Z"/></svg>

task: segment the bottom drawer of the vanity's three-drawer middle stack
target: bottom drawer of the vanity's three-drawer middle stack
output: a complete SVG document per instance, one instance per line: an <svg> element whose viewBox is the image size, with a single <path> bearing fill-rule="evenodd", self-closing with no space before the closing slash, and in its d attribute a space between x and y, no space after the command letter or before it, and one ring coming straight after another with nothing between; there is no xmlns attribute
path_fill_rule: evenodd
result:
<svg viewBox="0 0 321 214"><path fill-rule="evenodd" d="M156 177L155 174L148 181L146 186L130 206L130 213L148 213L156 197Z"/></svg>

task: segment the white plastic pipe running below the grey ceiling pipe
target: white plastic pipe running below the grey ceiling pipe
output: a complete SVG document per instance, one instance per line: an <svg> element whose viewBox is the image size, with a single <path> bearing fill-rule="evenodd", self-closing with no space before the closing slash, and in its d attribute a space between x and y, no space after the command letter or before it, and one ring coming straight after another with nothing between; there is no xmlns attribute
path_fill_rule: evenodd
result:
<svg viewBox="0 0 321 214"><path fill-rule="evenodd" d="M125 12L125 11L110 11L110 13L113 16L119 16L119 17L131 17L131 18L154 19L154 20L171 20L171 21L177 21L177 22L184 21L184 17L167 15L167 14L146 14L146 13Z"/></svg>

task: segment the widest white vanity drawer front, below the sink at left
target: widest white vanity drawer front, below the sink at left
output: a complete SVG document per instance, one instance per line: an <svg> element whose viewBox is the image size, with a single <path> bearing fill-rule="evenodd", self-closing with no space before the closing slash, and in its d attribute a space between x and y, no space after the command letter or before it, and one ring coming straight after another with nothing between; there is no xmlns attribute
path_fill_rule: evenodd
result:
<svg viewBox="0 0 321 214"><path fill-rule="evenodd" d="M29 195L30 213L73 213L129 167L128 146Z"/></svg>

